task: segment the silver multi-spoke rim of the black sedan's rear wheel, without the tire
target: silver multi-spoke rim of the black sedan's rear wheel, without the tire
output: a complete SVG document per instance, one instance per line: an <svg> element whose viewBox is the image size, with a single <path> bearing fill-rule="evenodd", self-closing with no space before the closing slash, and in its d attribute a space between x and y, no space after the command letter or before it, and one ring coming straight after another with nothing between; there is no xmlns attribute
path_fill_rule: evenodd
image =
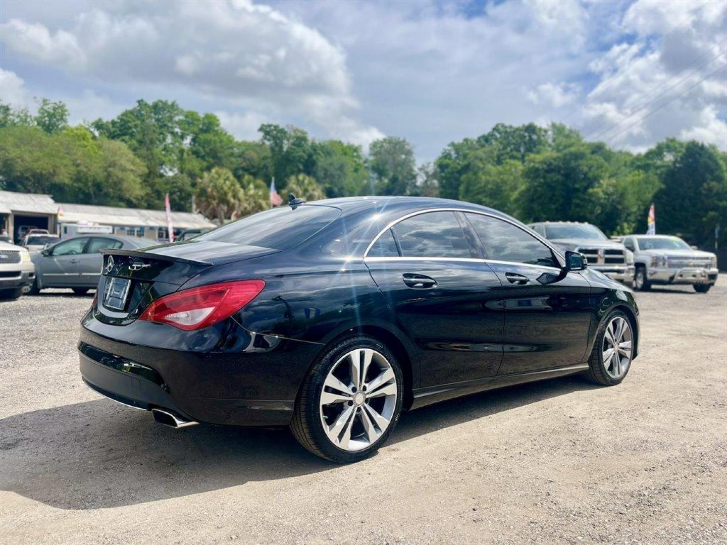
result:
<svg viewBox="0 0 727 545"><path fill-rule="evenodd" d="M356 348L329 371L319 401L331 443L361 451L384 435L393 419L398 388L391 363L376 350Z"/></svg>

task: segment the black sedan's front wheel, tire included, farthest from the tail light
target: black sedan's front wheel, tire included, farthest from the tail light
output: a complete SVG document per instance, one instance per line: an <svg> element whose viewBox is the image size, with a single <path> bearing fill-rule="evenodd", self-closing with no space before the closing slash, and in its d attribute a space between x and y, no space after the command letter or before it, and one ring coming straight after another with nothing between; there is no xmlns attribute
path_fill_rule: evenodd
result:
<svg viewBox="0 0 727 545"><path fill-rule="evenodd" d="M598 328L586 371L588 379L604 386L622 382L631 366L634 341L628 316L620 310L611 312Z"/></svg>

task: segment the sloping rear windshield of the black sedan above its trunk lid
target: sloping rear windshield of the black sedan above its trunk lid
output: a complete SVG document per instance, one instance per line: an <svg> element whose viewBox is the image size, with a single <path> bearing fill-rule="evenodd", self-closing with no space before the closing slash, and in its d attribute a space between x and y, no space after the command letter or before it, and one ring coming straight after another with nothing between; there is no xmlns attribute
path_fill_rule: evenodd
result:
<svg viewBox="0 0 727 545"><path fill-rule="evenodd" d="M238 219L194 241L215 241L287 250L315 235L339 217L341 211L332 206L281 206Z"/></svg>

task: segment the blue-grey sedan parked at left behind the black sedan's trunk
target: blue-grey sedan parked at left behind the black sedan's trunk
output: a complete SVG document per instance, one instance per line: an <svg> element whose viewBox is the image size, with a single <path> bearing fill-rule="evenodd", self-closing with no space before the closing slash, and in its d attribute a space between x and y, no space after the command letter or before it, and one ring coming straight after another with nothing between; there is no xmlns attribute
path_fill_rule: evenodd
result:
<svg viewBox="0 0 727 545"><path fill-rule="evenodd" d="M98 284L103 266L101 251L112 248L136 250L147 245L145 239L117 235L66 238L31 254L36 277L29 293L36 295L43 288L71 288L73 293L83 295Z"/></svg>

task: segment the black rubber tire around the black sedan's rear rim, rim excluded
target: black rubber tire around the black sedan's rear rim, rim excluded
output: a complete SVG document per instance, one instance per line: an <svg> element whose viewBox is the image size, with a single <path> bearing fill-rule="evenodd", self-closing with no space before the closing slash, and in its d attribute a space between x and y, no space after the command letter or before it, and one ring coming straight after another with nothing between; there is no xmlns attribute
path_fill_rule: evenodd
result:
<svg viewBox="0 0 727 545"><path fill-rule="evenodd" d="M329 371L343 355L356 348L371 348L386 358L394 371L397 396L390 424L385 432L382 433L381 437L375 443L360 451L345 451L334 445L329 440L326 432L324 432L318 400L320 399L324 381ZM332 342L332 344L324 349L324 352L318 357L316 363L310 368L310 371L308 371L295 402L290 429L298 442L311 453L330 461L348 464L368 458L386 443L398 423L399 416L401 416L402 400L403 376L393 353L384 344L371 336L350 336Z"/></svg>

